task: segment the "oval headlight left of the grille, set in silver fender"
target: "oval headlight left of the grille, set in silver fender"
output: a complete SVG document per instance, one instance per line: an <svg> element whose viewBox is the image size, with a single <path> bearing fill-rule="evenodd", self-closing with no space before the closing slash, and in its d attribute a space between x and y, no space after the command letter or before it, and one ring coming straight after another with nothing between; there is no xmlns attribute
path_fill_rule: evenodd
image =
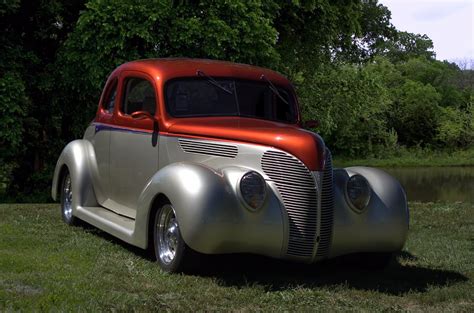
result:
<svg viewBox="0 0 474 313"><path fill-rule="evenodd" d="M242 176L240 194L250 209L254 211L260 209L267 195L267 184L262 175L251 171Z"/></svg>

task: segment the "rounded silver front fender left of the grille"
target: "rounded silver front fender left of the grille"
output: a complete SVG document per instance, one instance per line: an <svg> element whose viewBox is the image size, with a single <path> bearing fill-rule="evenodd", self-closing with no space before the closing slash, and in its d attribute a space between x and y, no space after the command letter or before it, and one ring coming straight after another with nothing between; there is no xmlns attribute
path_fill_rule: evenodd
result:
<svg viewBox="0 0 474 313"><path fill-rule="evenodd" d="M188 246L202 253L259 253L280 257L283 214L278 198L268 188L258 212L249 211L236 188L243 168L215 171L194 163L174 163L162 168L140 196L136 229L146 240L154 198L165 195L173 205L181 235Z"/></svg>

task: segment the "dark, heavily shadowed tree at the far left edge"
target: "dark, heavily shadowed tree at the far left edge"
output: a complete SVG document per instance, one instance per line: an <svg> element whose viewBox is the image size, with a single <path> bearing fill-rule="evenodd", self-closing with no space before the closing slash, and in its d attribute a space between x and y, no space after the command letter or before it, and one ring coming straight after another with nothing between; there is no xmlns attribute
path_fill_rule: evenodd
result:
<svg viewBox="0 0 474 313"><path fill-rule="evenodd" d="M49 138L55 122L46 86L53 80L50 65L81 4L7 1L0 9L0 178L10 194L37 190L32 173L49 180L45 160L54 150Z"/></svg>

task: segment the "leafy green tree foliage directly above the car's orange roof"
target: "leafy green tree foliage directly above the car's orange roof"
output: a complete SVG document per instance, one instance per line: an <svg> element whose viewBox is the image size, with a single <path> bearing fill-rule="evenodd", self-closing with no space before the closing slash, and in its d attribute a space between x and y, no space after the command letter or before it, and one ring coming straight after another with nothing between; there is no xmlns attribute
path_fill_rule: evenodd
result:
<svg viewBox="0 0 474 313"><path fill-rule="evenodd" d="M89 122L109 72L126 61L156 57L262 65L278 61L277 32L262 1L176 5L167 0L120 0L112 5L93 0L86 8L57 61L63 95L55 100L57 106L66 106L58 112L64 114L72 137ZM75 101L68 101L72 95Z"/></svg>

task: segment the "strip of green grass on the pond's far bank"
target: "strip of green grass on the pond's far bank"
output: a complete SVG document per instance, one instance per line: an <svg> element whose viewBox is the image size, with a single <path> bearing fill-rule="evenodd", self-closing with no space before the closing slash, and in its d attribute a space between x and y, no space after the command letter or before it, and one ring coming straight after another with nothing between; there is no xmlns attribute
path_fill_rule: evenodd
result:
<svg viewBox="0 0 474 313"><path fill-rule="evenodd" d="M336 155L334 164L337 167L355 165L376 167L474 166L474 148L452 151L401 148L395 153L387 153L384 158L340 158Z"/></svg>

